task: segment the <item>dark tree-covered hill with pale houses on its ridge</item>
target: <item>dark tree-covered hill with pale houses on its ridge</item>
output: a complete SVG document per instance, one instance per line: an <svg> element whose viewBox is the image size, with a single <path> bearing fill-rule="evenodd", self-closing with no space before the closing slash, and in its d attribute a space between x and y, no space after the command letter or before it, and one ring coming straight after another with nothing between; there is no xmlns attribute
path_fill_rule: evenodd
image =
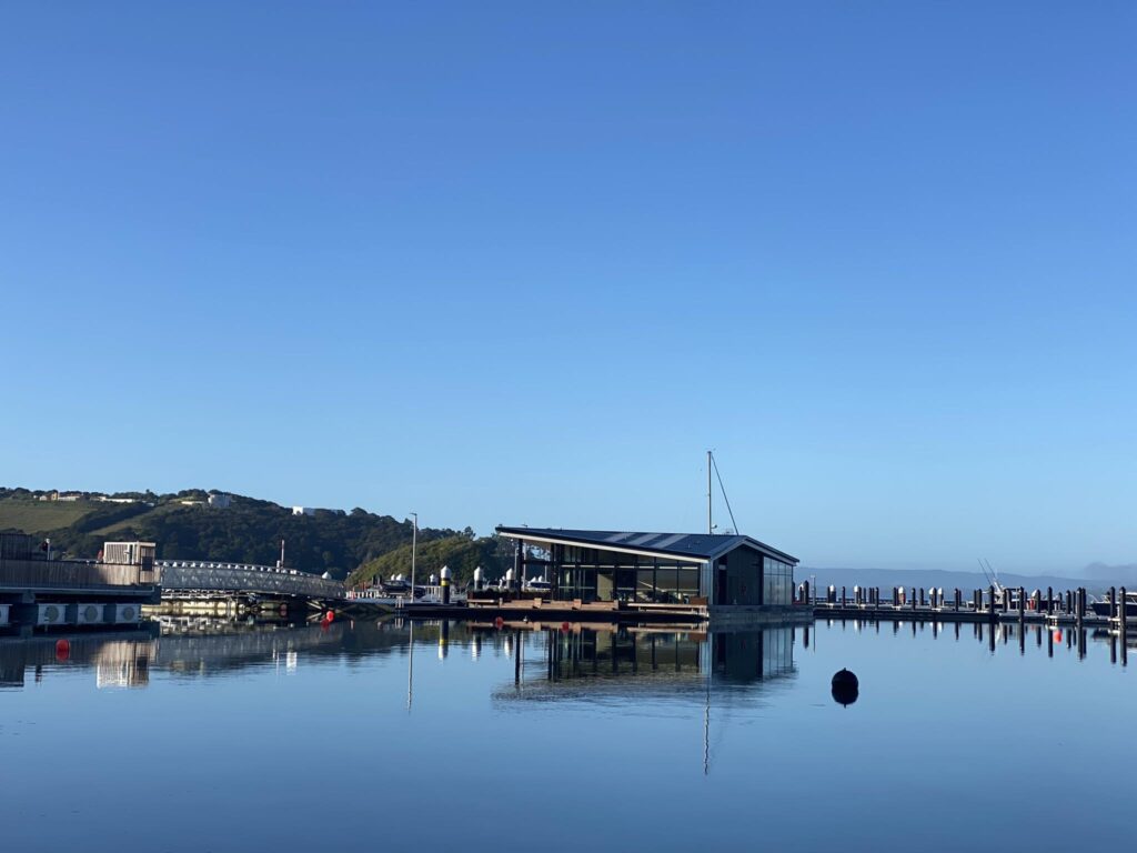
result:
<svg viewBox="0 0 1137 853"><path fill-rule="evenodd" d="M75 502L39 500L27 489L0 488L0 530L49 536L53 547L74 557L94 557L108 539L156 543L160 560L217 560L273 565L284 539L285 563L306 572L331 572L345 578L352 570L409 545L409 521L364 510L316 510L293 515L291 508L268 500L232 496L227 508L186 506L208 494L189 489L173 495L118 495L138 503L100 503L97 495ZM424 528L421 547L433 540L472 533ZM453 569L454 566L451 566ZM470 570L473 571L473 568Z"/></svg>

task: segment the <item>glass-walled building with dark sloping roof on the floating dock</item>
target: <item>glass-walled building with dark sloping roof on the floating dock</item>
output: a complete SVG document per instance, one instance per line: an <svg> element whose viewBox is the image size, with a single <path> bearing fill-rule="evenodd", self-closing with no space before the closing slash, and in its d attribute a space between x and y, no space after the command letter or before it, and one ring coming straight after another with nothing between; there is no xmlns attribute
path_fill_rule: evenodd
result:
<svg viewBox="0 0 1137 853"><path fill-rule="evenodd" d="M748 536L498 527L554 601L788 607L797 557Z"/></svg>

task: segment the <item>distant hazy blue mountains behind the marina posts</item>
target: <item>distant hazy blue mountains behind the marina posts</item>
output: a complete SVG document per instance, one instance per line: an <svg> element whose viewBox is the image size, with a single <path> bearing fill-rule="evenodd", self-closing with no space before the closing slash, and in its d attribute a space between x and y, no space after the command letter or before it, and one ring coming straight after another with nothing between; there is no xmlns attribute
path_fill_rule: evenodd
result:
<svg viewBox="0 0 1137 853"><path fill-rule="evenodd" d="M953 572L923 569L820 569L798 566L795 577L798 582L816 575L818 589L825 589L830 583L840 589L846 587L853 595L853 587L880 587L891 591L893 587L912 587L930 589L943 588L945 594L958 588L964 597L970 597L974 589L987 589L990 582L980 572ZM1086 577L1072 578L1056 574L1012 574L999 572L999 583L1005 587L1023 587L1028 593L1047 587L1059 590L1086 587L1090 593L1101 594L1110 586L1127 586L1137 589L1137 565L1110 566L1095 563L1087 566Z"/></svg>

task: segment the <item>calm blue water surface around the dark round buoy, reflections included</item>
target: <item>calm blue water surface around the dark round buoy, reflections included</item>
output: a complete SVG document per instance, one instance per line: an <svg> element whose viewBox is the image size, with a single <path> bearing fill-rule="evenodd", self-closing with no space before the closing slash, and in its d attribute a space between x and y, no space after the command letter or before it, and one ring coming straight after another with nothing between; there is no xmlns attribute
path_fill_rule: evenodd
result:
<svg viewBox="0 0 1137 853"><path fill-rule="evenodd" d="M0 638L3 850L1127 846L1118 647L978 630Z"/></svg>

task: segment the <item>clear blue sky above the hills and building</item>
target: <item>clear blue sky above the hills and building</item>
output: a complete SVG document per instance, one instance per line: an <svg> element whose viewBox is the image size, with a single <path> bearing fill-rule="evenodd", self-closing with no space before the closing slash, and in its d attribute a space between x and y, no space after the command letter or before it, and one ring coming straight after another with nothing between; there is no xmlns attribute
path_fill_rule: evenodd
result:
<svg viewBox="0 0 1137 853"><path fill-rule="evenodd" d="M0 482L1137 561L1137 7L9 3Z"/></svg>

